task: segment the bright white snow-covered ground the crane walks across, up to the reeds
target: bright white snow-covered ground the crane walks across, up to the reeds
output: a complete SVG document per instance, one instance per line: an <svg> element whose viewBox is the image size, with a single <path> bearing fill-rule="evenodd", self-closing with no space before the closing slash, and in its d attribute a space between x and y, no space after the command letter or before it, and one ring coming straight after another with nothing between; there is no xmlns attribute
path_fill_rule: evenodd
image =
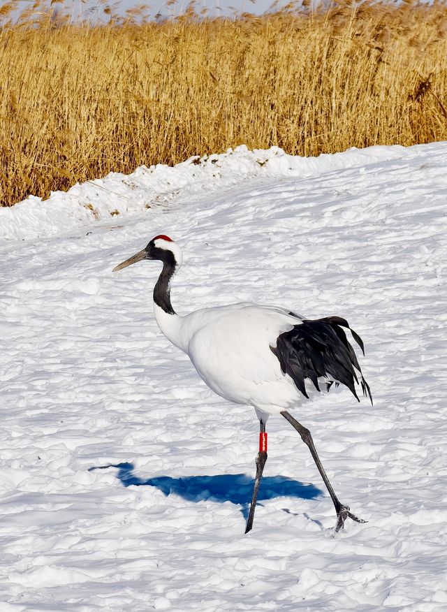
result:
<svg viewBox="0 0 447 612"><path fill-rule="evenodd" d="M332 537L272 417L244 535L254 410L161 335L156 263L112 274L158 233L180 314L246 300L360 333L374 407L345 389L295 416L368 523ZM1 612L446 611L447 143L139 168L0 210L0 250Z"/></svg>

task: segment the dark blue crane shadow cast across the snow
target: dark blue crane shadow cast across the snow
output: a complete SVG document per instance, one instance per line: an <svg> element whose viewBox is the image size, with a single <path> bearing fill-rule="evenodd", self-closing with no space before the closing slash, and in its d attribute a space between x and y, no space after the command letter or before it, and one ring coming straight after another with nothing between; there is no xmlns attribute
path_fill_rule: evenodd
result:
<svg viewBox="0 0 447 612"><path fill-rule="evenodd" d="M116 465L101 465L90 467L94 469L118 469L117 477L125 487L151 486L161 490L165 495L175 493L189 502L212 500L213 502L231 502L242 506L244 518L248 518L254 480L246 474L219 474L218 476L156 476L142 479L133 473L133 463L117 463ZM286 478L285 476L264 476L258 493L258 503L261 500L272 500L274 497L298 497L302 500L314 500L323 495L323 491L313 484L305 484Z"/></svg>

